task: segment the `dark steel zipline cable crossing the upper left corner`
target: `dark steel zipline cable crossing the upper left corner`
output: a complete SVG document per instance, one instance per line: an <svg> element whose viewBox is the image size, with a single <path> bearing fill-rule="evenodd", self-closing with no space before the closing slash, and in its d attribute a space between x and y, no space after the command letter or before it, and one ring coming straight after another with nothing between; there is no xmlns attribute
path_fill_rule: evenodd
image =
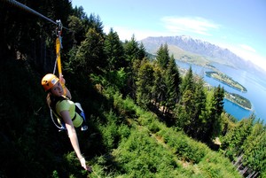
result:
<svg viewBox="0 0 266 178"><path fill-rule="evenodd" d="M53 20L51 20L51 19L45 17L43 14L41 14L41 13L39 13L39 12L36 12L35 10L33 10L33 9L29 8L29 7L27 7L27 5L21 4L20 2L17 2L17 1L15 1L15 0L0 0L0 1L4 1L4 2L6 2L6 3L8 3L8 4L11 4L11 5L13 5L13 6L16 6L16 7L20 8L21 10L24 10L24 11L26 11L26 12L32 13L32 14L34 14L34 15L36 15L36 16L39 16L39 17L41 17L41 18L43 18L43 19L46 19L46 20L50 21L51 23L53 23L53 24L55 24L55 25L58 25L57 22L55 22L55 21L53 21ZM63 28L65 28L66 30L72 31L72 30L70 30L70 29L68 29L68 28L66 28L66 27L63 27Z"/></svg>

